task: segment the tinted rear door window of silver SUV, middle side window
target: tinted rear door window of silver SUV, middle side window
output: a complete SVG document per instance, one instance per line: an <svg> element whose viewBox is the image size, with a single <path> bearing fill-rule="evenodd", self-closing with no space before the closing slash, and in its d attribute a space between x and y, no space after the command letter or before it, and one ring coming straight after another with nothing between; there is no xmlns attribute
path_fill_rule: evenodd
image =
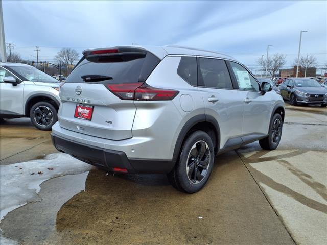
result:
<svg viewBox="0 0 327 245"><path fill-rule="evenodd" d="M224 60L199 58L201 76L199 86L210 88L233 88Z"/></svg>

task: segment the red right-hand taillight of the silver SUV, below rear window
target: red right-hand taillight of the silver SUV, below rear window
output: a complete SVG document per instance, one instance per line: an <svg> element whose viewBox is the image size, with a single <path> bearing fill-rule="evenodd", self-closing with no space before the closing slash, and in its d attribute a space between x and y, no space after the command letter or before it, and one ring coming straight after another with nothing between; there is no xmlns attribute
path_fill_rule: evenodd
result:
<svg viewBox="0 0 327 245"><path fill-rule="evenodd" d="M169 101L179 93L177 90L154 88L146 83L122 83L105 85L122 100Z"/></svg>

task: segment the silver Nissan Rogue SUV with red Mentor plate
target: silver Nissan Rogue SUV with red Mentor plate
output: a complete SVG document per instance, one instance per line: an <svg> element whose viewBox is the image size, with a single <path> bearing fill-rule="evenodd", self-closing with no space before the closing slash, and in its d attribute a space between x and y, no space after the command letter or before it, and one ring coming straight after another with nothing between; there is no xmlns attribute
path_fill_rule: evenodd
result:
<svg viewBox="0 0 327 245"><path fill-rule="evenodd" d="M178 190L207 182L215 156L279 144L284 102L232 57L183 48L86 50L60 88L56 148L108 171L168 174Z"/></svg>

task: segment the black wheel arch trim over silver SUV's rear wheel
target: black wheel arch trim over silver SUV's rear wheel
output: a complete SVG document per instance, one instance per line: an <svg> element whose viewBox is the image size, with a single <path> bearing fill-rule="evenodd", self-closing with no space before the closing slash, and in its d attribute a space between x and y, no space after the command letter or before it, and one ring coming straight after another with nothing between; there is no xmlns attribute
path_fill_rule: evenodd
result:
<svg viewBox="0 0 327 245"><path fill-rule="evenodd" d="M184 139L192 132L196 130L203 130L206 132L213 140L215 153L218 153L220 148L220 127L217 120L205 114L200 114L189 119L182 127L177 141L175 144L175 149L173 153L173 161L176 162L179 157L179 153L183 144Z"/></svg>

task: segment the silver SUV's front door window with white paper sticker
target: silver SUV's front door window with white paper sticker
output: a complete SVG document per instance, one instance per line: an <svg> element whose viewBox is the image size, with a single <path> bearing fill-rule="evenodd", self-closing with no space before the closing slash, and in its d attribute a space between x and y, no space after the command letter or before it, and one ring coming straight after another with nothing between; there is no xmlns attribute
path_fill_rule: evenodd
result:
<svg viewBox="0 0 327 245"><path fill-rule="evenodd" d="M242 66L235 62L230 62L236 77L240 90L259 91L259 84L255 81L253 76Z"/></svg>

